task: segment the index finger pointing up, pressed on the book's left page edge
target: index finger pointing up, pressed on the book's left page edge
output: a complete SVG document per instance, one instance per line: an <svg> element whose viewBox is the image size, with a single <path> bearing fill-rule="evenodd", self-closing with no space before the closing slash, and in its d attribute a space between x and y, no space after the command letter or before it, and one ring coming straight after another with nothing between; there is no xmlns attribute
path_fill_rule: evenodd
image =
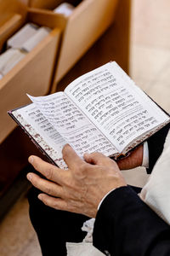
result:
<svg viewBox="0 0 170 256"><path fill-rule="evenodd" d="M66 165L71 169L77 169L77 166L82 165L84 162L74 151L69 144L66 144L63 148L63 159Z"/></svg>

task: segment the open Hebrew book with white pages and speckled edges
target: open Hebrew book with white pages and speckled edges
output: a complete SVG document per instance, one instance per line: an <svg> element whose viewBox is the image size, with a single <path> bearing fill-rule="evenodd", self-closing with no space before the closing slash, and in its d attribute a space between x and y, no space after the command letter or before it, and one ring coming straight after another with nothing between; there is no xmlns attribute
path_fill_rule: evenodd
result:
<svg viewBox="0 0 170 256"><path fill-rule="evenodd" d="M97 151L116 159L170 122L116 62L82 75L64 92L29 97L30 105L8 113L62 168L65 143L81 157Z"/></svg>

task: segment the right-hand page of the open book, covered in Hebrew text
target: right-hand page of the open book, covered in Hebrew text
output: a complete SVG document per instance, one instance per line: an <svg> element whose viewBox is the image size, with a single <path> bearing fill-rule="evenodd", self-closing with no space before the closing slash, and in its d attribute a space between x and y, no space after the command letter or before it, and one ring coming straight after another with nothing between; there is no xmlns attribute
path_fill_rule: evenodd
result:
<svg viewBox="0 0 170 256"><path fill-rule="evenodd" d="M110 62L73 81L65 93L122 152L146 131L169 119Z"/></svg>

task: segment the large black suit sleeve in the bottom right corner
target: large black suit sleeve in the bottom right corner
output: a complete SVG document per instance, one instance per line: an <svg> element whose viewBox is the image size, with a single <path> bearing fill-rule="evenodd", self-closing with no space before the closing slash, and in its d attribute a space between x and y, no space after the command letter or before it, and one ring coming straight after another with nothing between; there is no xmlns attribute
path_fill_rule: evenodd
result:
<svg viewBox="0 0 170 256"><path fill-rule="evenodd" d="M170 228L129 187L107 195L94 224L94 247L105 255L170 255Z"/></svg>

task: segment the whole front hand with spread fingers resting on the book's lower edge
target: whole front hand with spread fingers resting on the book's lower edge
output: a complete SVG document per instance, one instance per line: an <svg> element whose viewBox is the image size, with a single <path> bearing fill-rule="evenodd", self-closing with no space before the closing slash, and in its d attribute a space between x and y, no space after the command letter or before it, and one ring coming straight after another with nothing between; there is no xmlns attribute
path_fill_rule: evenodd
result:
<svg viewBox="0 0 170 256"><path fill-rule="evenodd" d="M112 189L126 186L116 162L104 154L84 154L82 160L70 145L63 148L67 170L30 156L29 162L40 172L28 173L27 178L37 189L42 190L38 198L48 207L82 213L95 218L99 202Z"/></svg>

